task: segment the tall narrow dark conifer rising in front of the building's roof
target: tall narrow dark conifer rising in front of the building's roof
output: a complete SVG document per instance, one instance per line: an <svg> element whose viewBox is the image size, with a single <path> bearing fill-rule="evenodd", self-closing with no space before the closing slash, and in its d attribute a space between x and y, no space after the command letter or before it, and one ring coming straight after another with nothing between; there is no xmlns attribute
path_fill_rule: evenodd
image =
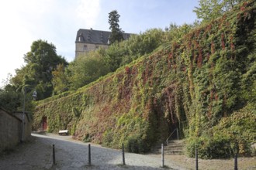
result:
<svg viewBox="0 0 256 170"><path fill-rule="evenodd" d="M119 17L120 15L116 10L109 12L109 29L111 30L111 35L109 37L109 42L120 42L123 40L123 31L119 28Z"/></svg>

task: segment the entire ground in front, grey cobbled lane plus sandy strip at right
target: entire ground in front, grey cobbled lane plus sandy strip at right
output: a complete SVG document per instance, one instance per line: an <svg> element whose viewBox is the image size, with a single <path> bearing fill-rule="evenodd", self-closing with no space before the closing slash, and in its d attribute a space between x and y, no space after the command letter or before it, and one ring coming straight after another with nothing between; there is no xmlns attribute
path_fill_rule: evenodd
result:
<svg viewBox="0 0 256 170"><path fill-rule="evenodd" d="M56 163L53 165L52 145ZM0 156L0 170L23 169L164 169L161 155L126 153L123 166L122 152L100 145L92 145L92 166L88 166L88 144L74 141L70 136L33 134L32 140L19 145L10 154ZM195 158L184 155L164 155L167 169L195 169ZM234 160L201 160L199 169L234 169ZM256 158L238 158L238 169L256 170Z"/></svg>

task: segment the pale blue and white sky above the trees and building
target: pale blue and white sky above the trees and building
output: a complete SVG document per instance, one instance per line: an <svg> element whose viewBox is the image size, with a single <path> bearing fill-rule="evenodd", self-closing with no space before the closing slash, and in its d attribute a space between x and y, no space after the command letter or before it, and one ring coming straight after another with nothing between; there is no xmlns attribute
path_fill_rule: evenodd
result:
<svg viewBox="0 0 256 170"><path fill-rule="evenodd" d="M0 87L25 66L23 56L38 39L53 43L57 54L74 59L78 29L109 30L116 10L119 28L140 34L171 23L192 23L198 0L8 0L0 2Z"/></svg>

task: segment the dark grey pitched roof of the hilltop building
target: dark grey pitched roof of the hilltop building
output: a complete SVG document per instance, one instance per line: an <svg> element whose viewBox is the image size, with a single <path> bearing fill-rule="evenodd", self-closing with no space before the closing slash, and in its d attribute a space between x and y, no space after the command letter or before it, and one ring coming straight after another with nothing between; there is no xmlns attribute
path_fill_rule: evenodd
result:
<svg viewBox="0 0 256 170"><path fill-rule="evenodd" d="M111 32L99 31L94 29L79 29L75 42L106 44L108 45ZM123 39L129 39L130 33L123 33Z"/></svg>

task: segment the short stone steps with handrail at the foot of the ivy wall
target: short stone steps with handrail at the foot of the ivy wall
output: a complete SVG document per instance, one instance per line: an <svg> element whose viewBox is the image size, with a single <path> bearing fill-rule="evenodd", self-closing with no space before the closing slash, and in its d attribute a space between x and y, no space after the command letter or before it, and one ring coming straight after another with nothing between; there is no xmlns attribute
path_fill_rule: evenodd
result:
<svg viewBox="0 0 256 170"><path fill-rule="evenodd" d="M184 155L185 141L175 140L169 141L168 145L164 145L164 155ZM161 154L161 145L157 145L153 149L154 154Z"/></svg>

